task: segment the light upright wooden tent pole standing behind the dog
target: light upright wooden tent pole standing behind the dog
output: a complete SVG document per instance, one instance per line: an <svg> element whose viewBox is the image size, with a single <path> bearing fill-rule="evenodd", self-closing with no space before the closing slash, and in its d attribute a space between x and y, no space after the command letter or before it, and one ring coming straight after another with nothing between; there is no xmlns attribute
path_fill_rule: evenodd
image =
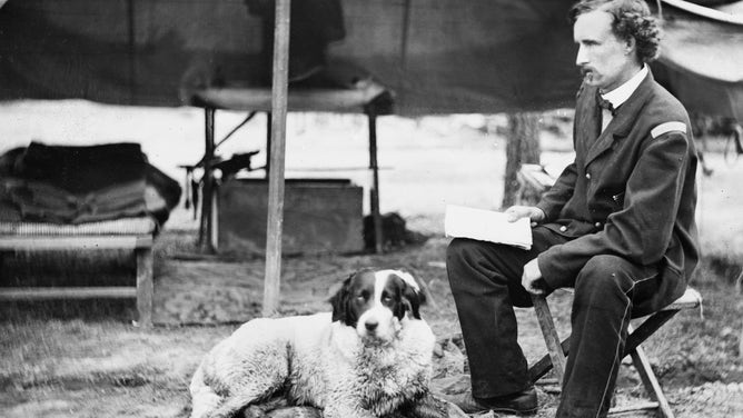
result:
<svg viewBox="0 0 743 418"><path fill-rule="evenodd" d="M281 231L284 226L284 152L288 96L289 10L291 0L276 0L274 23L274 71L271 86L271 143L268 173L268 226L264 317L276 315L281 279Z"/></svg>

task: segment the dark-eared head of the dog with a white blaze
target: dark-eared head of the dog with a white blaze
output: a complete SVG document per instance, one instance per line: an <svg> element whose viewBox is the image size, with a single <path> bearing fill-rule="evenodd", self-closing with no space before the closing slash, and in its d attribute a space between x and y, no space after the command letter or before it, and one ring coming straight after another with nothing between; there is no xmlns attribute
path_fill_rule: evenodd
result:
<svg viewBox="0 0 743 418"><path fill-rule="evenodd" d="M400 270L359 270L333 298L333 321L356 328L366 342L389 342L407 314L420 319L425 297L410 273Z"/></svg>

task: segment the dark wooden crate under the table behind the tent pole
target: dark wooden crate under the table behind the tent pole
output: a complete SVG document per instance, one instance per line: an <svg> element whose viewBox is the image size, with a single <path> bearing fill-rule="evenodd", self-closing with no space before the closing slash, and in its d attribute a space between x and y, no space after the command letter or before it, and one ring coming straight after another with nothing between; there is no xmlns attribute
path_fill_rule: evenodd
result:
<svg viewBox="0 0 743 418"><path fill-rule="evenodd" d="M285 255L346 253L364 249L363 195L349 180L287 179ZM235 179L218 191L219 252L251 255L266 248L268 182Z"/></svg>

